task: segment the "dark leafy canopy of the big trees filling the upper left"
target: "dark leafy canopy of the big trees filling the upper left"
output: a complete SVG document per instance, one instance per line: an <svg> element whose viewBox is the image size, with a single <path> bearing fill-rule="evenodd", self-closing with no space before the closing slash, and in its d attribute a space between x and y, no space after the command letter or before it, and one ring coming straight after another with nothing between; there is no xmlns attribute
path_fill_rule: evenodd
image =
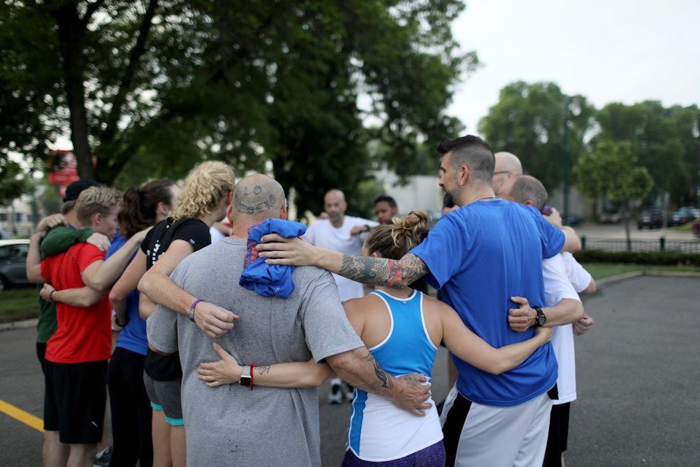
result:
<svg viewBox="0 0 700 467"><path fill-rule="evenodd" d="M200 160L272 171L301 212L372 163L407 175L456 135L451 85L477 65L457 0L48 0L3 3L3 151L44 155L69 132L82 176L134 183ZM25 71L31 73L25 79ZM7 71L7 74L5 74ZM3 120L6 116L3 114ZM365 121L372 122L368 129ZM372 160L369 141L388 148ZM28 141L28 142L27 142Z"/></svg>

